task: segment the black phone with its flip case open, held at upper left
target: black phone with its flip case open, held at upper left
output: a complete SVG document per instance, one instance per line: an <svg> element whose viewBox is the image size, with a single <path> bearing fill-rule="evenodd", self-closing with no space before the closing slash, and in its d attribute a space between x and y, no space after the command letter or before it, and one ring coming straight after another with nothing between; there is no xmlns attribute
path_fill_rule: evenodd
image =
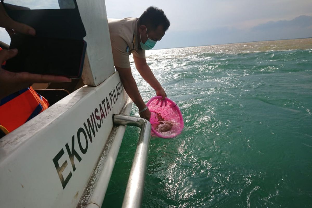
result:
<svg viewBox="0 0 312 208"><path fill-rule="evenodd" d="M5 69L36 74L80 78L85 59L86 35L76 0L1 0L8 15L15 21L36 30L36 36L16 33L10 49L18 54L7 60Z"/></svg>

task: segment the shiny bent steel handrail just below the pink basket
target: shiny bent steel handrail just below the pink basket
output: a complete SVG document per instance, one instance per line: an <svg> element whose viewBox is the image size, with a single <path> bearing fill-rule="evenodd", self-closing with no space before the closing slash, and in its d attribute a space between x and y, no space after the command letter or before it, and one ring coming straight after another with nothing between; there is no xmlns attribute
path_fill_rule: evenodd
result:
<svg viewBox="0 0 312 208"><path fill-rule="evenodd" d="M129 180L124 194L123 208L141 207L144 191L145 172L149 153L149 141L151 138L151 123L148 120L115 114L114 124L130 125L141 128L138 146L129 175Z"/></svg>

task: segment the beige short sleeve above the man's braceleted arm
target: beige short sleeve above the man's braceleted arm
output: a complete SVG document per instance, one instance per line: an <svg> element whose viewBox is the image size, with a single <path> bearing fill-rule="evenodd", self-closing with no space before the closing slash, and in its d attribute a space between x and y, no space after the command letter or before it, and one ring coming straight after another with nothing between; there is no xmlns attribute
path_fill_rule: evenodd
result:
<svg viewBox="0 0 312 208"><path fill-rule="evenodd" d="M129 54L126 52L127 42L120 36L110 34L114 65L120 68L130 68Z"/></svg>

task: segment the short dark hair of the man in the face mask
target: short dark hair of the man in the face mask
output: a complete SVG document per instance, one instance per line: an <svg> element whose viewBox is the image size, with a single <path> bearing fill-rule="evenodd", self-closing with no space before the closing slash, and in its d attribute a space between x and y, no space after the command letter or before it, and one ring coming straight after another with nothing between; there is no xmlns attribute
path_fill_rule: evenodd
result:
<svg viewBox="0 0 312 208"><path fill-rule="evenodd" d="M170 22L163 13L163 10L158 9L157 7L147 8L141 17L139 17L139 24L145 25L154 31L159 25L163 26L163 31L167 31L170 26Z"/></svg>

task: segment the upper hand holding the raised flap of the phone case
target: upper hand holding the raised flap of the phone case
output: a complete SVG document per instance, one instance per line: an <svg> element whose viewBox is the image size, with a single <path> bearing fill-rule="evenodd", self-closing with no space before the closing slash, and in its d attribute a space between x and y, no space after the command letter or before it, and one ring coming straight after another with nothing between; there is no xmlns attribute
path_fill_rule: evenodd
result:
<svg viewBox="0 0 312 208"><path fill-rule="evenodd" d="M3 8L2 3L0 3L0 27L6 28L10 36L14 32L20 32L26 35L36 35L34 28L12 20Z"/></svg>

